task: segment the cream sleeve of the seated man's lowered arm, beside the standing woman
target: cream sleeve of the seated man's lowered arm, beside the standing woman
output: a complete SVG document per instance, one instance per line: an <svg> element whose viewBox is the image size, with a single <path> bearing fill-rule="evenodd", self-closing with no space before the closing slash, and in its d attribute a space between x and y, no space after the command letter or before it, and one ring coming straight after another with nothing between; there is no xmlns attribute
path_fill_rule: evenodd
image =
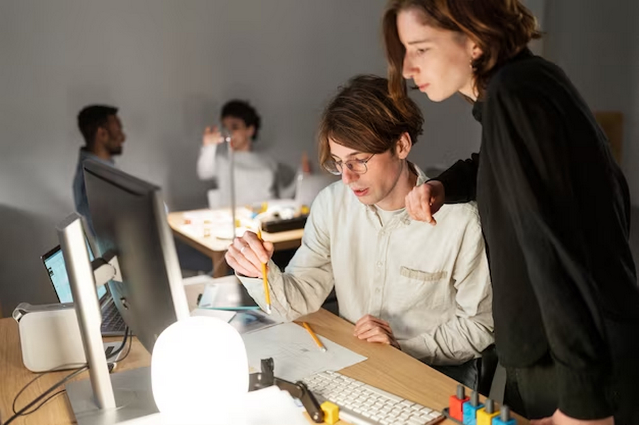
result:
<svg viewBox="0 0 639 425"><path fill-rule="evenodd" d="M466 227L453 269L455 317L432 331L400 341L402 351L429 364L460 364L493 343L492 289L479 219Z"/></svg>

